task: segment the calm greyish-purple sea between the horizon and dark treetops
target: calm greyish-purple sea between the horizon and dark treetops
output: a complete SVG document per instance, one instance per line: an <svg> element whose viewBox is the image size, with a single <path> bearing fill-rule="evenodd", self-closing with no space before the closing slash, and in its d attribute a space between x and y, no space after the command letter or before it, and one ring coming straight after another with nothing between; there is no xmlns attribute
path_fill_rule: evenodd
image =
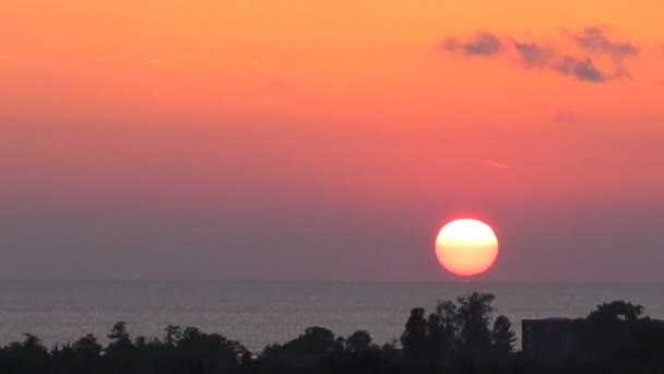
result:
<svg viewBox="0 0 664 374"><path fill-rule="evenodd" d="M134 335L162 337L169 324L221 332L251 350L285 342L308 326L376 342L399 338L412 307L471 291L496 294L512 320L584 316L622 299L664 318L663 284L327 283L327 282L0 282L0 343L31 332L52 346L124 320ZM100 339L105 341L105 339Z"/></svg>

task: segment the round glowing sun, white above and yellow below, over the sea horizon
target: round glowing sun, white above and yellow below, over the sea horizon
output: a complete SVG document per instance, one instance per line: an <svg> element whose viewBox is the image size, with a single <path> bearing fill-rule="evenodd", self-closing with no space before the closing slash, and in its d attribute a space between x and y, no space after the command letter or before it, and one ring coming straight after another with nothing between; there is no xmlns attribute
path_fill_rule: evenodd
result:
<svg viewBox="0 0 664 374"><path fill-rule="evenodd" d="M498 238L494 230L482 221L454 220L438 233L436 256L443 268L456 276L476 276L496 261Z"/></svg>

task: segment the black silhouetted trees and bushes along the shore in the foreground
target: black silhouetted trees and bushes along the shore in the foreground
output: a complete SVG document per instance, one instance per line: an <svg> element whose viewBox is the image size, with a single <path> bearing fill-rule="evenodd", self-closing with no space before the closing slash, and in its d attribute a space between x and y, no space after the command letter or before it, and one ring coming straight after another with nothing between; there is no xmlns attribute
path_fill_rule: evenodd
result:
<svg viewBox="0 0 664 374"><path fill-rule="evenodd" d="M664 322L643 317L639 305L602 304L570 320L573 342L555 354L532 355L514 352L512 325L494 318L493 301L473 293L440 301L428 315L414 308L400 340L382 347L367 331L344 338L322 327L258 354L193 327L168 326L162 339L132 338L120 322L106 347L88 335L50 350L26 335L0 349L0 373L664 373Z"/></svg>

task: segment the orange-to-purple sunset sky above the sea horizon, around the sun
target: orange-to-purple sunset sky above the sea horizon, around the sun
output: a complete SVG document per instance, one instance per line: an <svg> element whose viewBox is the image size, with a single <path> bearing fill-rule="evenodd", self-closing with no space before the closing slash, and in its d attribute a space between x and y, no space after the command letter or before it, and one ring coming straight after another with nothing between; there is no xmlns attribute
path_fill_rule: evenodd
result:
<svg viewBox="0 0 664 374"><path fill-rule="evenodd" d="M0 279L664 281L663 8L0 2Z"/></svg>

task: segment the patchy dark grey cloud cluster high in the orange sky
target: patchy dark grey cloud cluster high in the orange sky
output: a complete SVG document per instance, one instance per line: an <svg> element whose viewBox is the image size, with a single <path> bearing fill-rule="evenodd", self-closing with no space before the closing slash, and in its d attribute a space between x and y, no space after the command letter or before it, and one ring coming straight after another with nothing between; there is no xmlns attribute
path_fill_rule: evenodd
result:
<svg viewBox="0 0 664 374"><path fill-rule="evenodd" d="M515 56L517 63L524 69L553 71L590 83L606 83L631 77L625 67L625 60L639 54L639 48L633 43L616 42L601 27L585 27L577 33L566 31L565 34L565 47L479 33L466 42L449 37L443 43L443 50L466 57L488 56L509 60L514 60ZM503 39L510 42L503 43ZM499 54L503 50L508 50L508 54Z"/></svg>

